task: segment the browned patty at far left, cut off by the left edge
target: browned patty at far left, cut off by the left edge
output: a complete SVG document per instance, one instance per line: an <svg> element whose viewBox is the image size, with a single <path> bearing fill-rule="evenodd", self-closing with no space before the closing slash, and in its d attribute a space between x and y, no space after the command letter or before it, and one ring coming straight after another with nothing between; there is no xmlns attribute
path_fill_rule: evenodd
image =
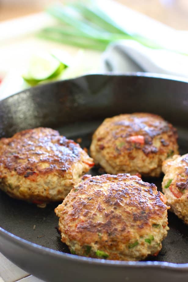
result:
<svg viewBox="0 0 188 282"><path fill-rule="evenodd" d="M63 200L93 160L51 128L28 129L0 140L0 188L40 204Z"/></svg>

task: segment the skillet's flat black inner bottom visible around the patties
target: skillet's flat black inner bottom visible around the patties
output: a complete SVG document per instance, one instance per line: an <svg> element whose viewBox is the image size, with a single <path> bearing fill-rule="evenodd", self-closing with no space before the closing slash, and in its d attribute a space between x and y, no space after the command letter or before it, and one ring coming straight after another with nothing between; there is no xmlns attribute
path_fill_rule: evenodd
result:
<svg viewBox="0 0 188 282"><path fill-rule="evenodd" d="M77 122L55 129L75 141L81 138L81 147L89 149L92 133L100 123L101 121ZM188 152L188 131L179 128L178 133L180 153L185 154ZM99 168L93 168L90 173L92 175L101 174ZM162 177L160 179L143 178L143 180L155 183L161 190ZM12 199L0 192L0 225L3 229L30 242L70 253L68 247L60 241L60 235L57 231L58 218L54 213L54 208L58 204L52 203L42 209L34 204ZM162 243L161 252L157 257L149 257L147 260L187 263L188 226L171 212L168 213L168 222L170 230Z"/></svg>

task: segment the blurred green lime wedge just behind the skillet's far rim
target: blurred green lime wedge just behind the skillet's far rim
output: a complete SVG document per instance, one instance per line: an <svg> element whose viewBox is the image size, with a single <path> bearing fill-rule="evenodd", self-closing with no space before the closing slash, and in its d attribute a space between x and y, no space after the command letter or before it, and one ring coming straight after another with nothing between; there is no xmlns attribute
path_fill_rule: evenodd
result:
<svg viewBox="0 0 188 282"><path fill-rule="evenodd" d="M33 55L27 73L22 77L30 85L36 85L40 81L56 78L65 67L66 65L51 54Z"/></svg>

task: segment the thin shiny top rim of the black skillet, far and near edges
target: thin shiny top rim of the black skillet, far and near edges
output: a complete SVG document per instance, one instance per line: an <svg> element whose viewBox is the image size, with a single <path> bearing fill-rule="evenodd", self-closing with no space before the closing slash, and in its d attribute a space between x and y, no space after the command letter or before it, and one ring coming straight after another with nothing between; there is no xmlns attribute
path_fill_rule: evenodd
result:
<svg viewBox="0 0 188 282"><path fill-rule="evenodd" d="M147 73L147 72L127 72L127 73L113 73L113 72L106 72L106 73L89 73L85 74L80 77L76 78L84 78L85 76L95 76L95 75L101 75L101 76L133 76L133 77L150 77L150 78L159 78L159 79L166 79L166 80L173 80L173 81L181 81L188 83L188 78L184 77L178 77L178 76L172 76L168 74L156 74L156 73ZM68 79L69 81L74 80L75 78ZM49 85L60 83L61 81L54 81L48 83ZM45 84L44 84L45 85ZM38 85L34 88L42 88L44 85ZM29 88L31 89L31 88ZM17 92L11 96L17 95L21 92L28 91L29 89L24 89L23 91ZM9 97L5 99L8 99ZM3 100L5 100L3 99ZM1 101L0 101L1 102ZM134 262L134 261L114 261L114 260L105 260L105 259L99 259L99 258L88 258L88 257L82 257L78 255L71 255L67 253L63 253L60 251L56 251L50 248L46 248L43 246L40 246L38 244L32 243L30 241L27 241L25 239L22 239L6 230L0 227L0 235L4 237L5 239L13 242L14 244L17 244L20 247L26 248L27 250L34 251L35 253L41 253L43 255L45 254L51 254L52 256L55 256L59 259L64 258L69 260L70 262L81 262L84 264L94 264L94 265L105 265L105 266L115 266L115 267L134 267L134 268L160 268L160 269L168 269L168 270L178 270L178 271L188 271L188 263L172 263L172 262L157 262L157 261L146 261L146 262Z"/></svg>

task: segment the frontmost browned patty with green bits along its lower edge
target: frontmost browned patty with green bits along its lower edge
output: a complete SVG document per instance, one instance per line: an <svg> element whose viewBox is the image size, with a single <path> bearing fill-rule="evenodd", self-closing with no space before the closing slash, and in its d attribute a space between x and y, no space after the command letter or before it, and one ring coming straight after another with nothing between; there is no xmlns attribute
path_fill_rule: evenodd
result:
<svg viewBox="0 0 188 282"><path fill-rule="evenodd" d="M84 175L56 209L62 242L72 254L141 260L167 235L165 197L130 174Z"/></svg>

